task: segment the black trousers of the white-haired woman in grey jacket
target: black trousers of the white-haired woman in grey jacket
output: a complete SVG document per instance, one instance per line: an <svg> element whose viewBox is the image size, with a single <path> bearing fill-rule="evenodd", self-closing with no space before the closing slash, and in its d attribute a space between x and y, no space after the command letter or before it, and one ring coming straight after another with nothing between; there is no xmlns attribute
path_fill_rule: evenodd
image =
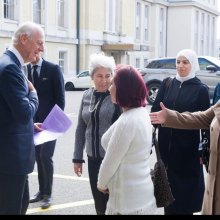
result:
<svg viewBox="0 0 220 220"><path fill-rule="evenodd" d="M108 194L104 194L97 189L98 173L102 163L102 159L91 159L88 157L88 172L90 187L95 201L95 209L98 215L104 215L106 204L108 202Z"/></svg>

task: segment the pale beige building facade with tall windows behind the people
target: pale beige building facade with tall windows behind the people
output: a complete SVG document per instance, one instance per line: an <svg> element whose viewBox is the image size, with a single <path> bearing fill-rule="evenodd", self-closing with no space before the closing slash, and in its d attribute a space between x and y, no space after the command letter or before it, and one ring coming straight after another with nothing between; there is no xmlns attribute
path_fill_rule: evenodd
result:
<svg viewBox="0 0 220 220"><path fill-rule="evenodd" d="M217 0L1 0L0 52L24 21L40 23L44 57L64 75L88 69L103 51L116 63L143 68L149 58L183 48L217 57Z"/></svg>

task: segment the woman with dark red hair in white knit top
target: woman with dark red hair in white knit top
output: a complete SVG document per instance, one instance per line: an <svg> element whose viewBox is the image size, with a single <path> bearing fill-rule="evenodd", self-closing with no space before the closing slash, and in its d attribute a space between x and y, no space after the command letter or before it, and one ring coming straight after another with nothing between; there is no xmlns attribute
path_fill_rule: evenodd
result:
<svg viewBox="0 0 220 220"><path fill-rule="evenodd" d="M145 108L145 83L135 68L121 65L109 90L112 102L121 106L123 113L102 137L106 154L98 189L109 193L106 214L155 214L149 168L152 125Z"/></svg>

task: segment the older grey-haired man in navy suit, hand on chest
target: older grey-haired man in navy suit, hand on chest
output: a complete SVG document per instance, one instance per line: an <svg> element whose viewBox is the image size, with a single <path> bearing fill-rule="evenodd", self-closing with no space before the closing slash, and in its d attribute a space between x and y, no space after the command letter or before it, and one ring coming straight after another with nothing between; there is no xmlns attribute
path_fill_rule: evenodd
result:
<svg viewBox="0 0 220 220"><path fill-rule="evenodd" d="M0 58L0 215L26 214L28 208L38 97L22 67L43 49L43 29L26 22L15 31L12 45Z"/></svg>

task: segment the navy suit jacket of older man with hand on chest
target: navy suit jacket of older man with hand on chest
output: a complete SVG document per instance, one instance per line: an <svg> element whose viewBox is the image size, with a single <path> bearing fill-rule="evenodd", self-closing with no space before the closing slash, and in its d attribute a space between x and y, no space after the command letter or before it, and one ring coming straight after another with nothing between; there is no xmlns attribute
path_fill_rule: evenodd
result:
<svg viewBox="0 0 220 220"><path fill-rule="evenodd" d="M6 51L0 58L0 174L33 171L33 117L37 108L37 94L29 92L19 60Z"/></svg>

